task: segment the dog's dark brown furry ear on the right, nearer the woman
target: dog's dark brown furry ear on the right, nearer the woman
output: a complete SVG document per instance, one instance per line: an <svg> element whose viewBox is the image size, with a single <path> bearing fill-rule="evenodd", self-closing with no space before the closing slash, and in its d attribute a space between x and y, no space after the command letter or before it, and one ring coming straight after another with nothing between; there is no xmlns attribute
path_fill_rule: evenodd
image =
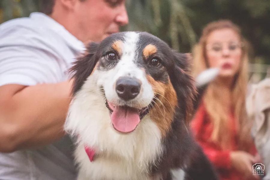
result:
<svg viewBox="0 0 270 180"><path fill-rule="evenodd" d="M175 66L171 81L176 90L178 106L184 113L186 125L193 116L193 102L196 95L195 83L190 75L191 55L174 52Z"/></svg>

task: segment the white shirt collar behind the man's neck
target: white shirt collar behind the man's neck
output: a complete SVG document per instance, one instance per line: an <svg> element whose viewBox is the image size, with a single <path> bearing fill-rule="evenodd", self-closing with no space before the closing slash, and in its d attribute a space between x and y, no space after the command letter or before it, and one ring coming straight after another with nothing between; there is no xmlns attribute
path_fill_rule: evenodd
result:
<svg viewBox="0 0 270 180"><path fill-rule="evenodd" d="M31 13L29 17L37 22L42 22L42 24L45 24L49 29L56 32L64 39L64 41L66 41L67 45L75 51L79 51L80 53L83 53L85 51L85 46L82 41L79 41L75 36L68 32L67 29L64 28L64 26L59 24L50 16L47 16L44 13L34 12Z"/></svg>

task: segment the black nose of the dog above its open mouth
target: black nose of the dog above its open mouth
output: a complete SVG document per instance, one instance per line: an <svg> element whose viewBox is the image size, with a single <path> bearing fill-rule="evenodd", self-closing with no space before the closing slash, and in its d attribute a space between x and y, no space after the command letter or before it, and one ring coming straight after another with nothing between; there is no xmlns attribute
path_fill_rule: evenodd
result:
<svg viewBox="0 0 270 180"><path fill-rule="evenodd" d="M115 88L119 98L128 101L136 98L140 93L141 83L136 78L122 77L116 81Z"/></svg>

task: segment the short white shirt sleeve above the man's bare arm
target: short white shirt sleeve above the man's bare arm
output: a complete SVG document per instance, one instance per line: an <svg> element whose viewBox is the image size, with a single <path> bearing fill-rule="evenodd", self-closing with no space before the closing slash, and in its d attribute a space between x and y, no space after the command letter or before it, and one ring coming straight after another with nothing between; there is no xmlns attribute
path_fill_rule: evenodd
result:
<svg viewBox="0 0 270 180"><path fill-rule="evenodd" d="M61 57L55 55L42 37L18 30L0 35L0 86L59 82Z"/></svg>

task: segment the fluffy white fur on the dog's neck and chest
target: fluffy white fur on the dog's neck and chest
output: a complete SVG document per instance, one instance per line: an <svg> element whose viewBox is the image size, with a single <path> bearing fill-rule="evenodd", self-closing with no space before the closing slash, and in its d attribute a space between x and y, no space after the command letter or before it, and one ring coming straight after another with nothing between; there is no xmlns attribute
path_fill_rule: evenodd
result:
<svg viewBox="0 0 270 180"><path fill-rule="evenodd" d="M104 97L90 76L70 105L65 129L80 136L75 157L79 180L150 180L149 165L157 162L163 147L157 125L146 115L137 129L120 134L113 129ZM83 144L98 156L90 162ZM155 177L155 180L158 177Z"/></svg>

